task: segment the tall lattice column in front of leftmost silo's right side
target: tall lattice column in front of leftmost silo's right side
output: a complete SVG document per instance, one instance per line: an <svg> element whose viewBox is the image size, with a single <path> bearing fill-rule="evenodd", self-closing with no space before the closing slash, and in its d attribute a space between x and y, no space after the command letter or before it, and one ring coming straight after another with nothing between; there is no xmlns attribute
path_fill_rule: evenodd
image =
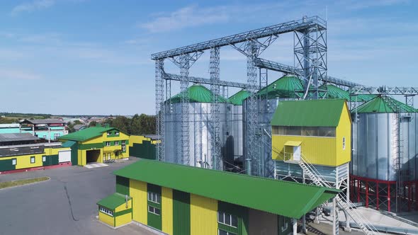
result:
<svg viewBox="0 0 418 235"><path fill-rule="evenodd" d="M210 103L210 121L212 122L212 133L210 139L210 153L212 154L212 168L222 170L222 154L220 144L220 88L216 81L220 80L219 73L219 47L210 49L210 91L212 91L212 103ZM225 90L224 90L225 91Z"/></svg>

